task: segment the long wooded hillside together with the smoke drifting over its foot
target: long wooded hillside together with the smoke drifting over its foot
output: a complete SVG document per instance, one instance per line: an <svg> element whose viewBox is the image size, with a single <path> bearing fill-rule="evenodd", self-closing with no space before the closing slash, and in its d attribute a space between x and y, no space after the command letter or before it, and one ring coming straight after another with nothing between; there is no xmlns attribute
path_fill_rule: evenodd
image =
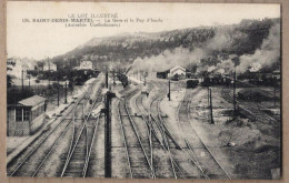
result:
<svg viewBox="0 0 289 183"><path fill-rule="evenodd" d="M280 19L242 20L239 24L231 26L201 27L156 33L123 33L114 37L93 38L62 55L54 57L52 61L59 68L72 68L81 59L89 59L100 70L111 61L114 65L132 63L136 69L139 64L144 64L144 62L147 69L150 69L151 64L157 64L155 70L166 69L166 67L158 68L158 65L163 67L163 63L168 67L179 63L187 69L201 64L208 69L209 67L218 68L222 64L230 64L222 63L222 61L235 58L233 61L238 65L242 59L250 60L250 57L255 57L258 50L259 52L266 49L273 50L273 52L277 51L275 57L278 57L280 53L278 49L280 48L268 47L271 41L268 39L275 39L277 41L275 43L280 40L278 30L273 32L275 34L270 34L273 27L280 30ZM269 41L267 41L268 45L263 45L265 40ZM270 59L277 61L273 61L273 63L268 61L266 65L280 61L278 58L271 58L271 53L269 55ZM152 63L150 63L151 61ZM276 69L279 63L273 68ZM248 67L251 67L251 64L246 67L246 69L249 69ZM243 69L239 70L242 71Z"/></svg>

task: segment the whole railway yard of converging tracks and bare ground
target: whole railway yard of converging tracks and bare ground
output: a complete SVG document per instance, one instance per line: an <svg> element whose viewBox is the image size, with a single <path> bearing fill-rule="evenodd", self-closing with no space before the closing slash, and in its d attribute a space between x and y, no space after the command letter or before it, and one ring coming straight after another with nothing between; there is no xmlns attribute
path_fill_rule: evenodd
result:
<svg viewBox="0 0 289 183"><path fill-rule="evenodd" d="M169 89L168 80L152 77L126 88L111 83L117 98L110 102L107 139L108 119L100 110L109 90L104 82L100 74L73 98L8 162L8 176L104 177L110 169L112 177L271 179L280 166L280 95L262 103L238 98L233 118L231 87L187 89L183 80L171 81ZM242 90L250 89L237 88Z"/></svg>

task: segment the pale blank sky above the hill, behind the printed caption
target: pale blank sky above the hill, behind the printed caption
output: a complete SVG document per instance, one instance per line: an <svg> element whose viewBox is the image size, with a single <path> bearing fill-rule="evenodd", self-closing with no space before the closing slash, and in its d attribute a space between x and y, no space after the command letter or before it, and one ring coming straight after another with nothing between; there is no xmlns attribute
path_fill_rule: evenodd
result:
<svg viewBox="0 0 289 183"><path fill-rule="evenodd" d="M119 27L90 27L89 23L88 27L66 27L66 23L51 22L51 19L70 19L72 14L84 13L117 14L118 20L131 19L133 22L120 22ZM242 19L279 17L279 4L8 1L7 53L8 57L40 60L63 54L94 37L233 24ZM161 21L147 22L151 18ZM50 22L32 22L32 19L50 19ZM137 19L144 22L137 22Z"/></svg>

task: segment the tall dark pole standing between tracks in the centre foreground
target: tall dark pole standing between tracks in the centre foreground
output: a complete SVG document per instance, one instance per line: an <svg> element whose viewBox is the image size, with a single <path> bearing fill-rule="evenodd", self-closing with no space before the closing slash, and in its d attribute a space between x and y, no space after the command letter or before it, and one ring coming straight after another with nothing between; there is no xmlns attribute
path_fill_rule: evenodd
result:
<svg viewBox="0 0 289 183"><path fill-rule="evenodd" d="M106 94L106 108L102 112L106 116L104 123L104 176L111 177L111 118L110 118L110 104L112 98L116 98L116 93L110 91Z"/></svg>

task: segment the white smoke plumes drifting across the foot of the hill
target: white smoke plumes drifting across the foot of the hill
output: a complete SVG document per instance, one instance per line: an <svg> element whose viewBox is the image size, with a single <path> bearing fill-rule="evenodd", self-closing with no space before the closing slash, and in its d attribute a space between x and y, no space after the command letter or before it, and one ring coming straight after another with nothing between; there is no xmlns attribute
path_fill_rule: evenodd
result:
<svg viewBox="0 0 289 183"><path fill-rule="evenodd" d="M159 55L150 58L137 58L132 63L132 71L165 71L175 65L189 68L197 65L197 72L208 71L215 73L229 73L233 71L235 63L232 58L236 54L229 55L228 59L218 57L216 65L208 65L201 60L211 55L213 51L229 50L233 40L247 39L247 34L242 32L232 33L232 28L219 28L216 35L205 43L205 45L195 48L192 51L179 47L175 50L166 50ZM269 35L263 40L260 49L257 49L253 54L243 54L240 57L240 64L237 65L237 73L243 73L247 70L258 71L263 67L270 67L280 61L280 24L277 23L270 28Z"/></svg>

